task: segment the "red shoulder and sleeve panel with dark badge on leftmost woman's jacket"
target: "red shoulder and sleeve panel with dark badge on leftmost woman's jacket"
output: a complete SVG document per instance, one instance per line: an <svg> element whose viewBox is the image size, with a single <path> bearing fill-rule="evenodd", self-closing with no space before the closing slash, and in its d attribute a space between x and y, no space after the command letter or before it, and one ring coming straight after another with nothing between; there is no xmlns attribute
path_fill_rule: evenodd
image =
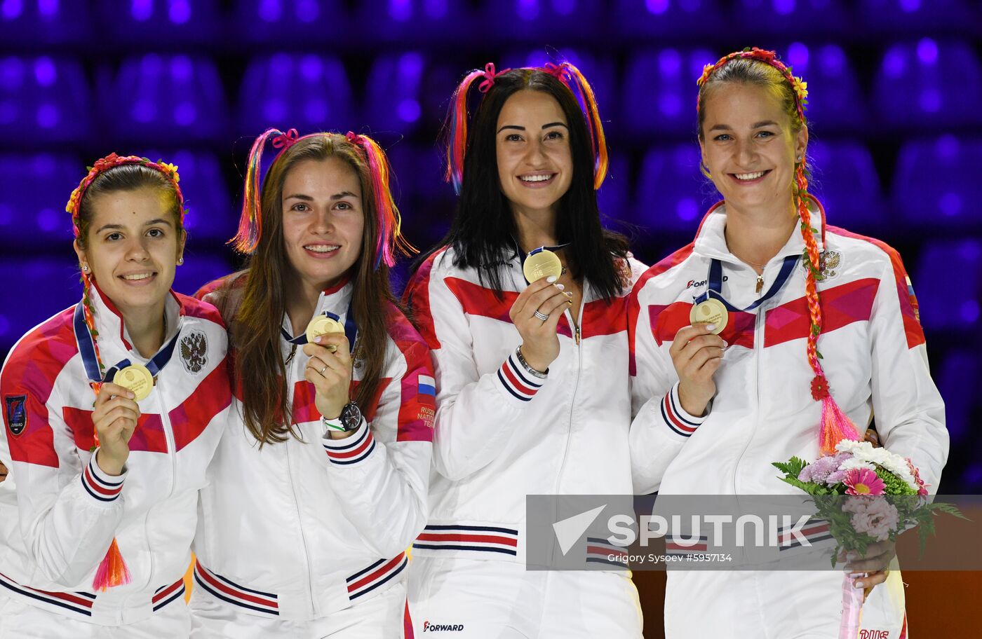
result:
<svg viewBox="0 0 982 639"><path fill-rule="evenodd" d="M11 353L0 376L0 396L7 443L12 461L58 467L54 431L45 405L51 397L55 379L79 352L72 326L75 306L58 313L21 340ZM80 380L79 383L84 383ZM27 396L24 402L27 423L19 435L7 424L7 398ZM94 395L92 396L94 398Z"/></svg>

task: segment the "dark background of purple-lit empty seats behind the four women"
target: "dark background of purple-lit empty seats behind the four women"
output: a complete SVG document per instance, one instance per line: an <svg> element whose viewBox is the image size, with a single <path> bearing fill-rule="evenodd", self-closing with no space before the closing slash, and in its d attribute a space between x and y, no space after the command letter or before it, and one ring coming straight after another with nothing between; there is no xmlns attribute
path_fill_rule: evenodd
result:
<svg viewBox="0 0 982 639"><path fill-rule="evenodd" d="M948 410L940 492L982 492L979 0L0 0L0 353L78 300L65 202L111 151L180 166L182 293L239 263L225 241L241 167L270 126L375 136L406 235L429 246L454 206L437 133L456 83L488 61L582 69L612 152L602 210L654 263L715 200L695 79L750 45L808 82L829 222L900 250Z"/></svg>

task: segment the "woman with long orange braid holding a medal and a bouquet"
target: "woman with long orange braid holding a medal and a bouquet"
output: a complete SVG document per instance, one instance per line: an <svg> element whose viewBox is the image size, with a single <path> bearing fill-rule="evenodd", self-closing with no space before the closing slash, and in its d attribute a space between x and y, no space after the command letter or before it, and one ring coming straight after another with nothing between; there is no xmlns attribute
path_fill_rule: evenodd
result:
<svg viewBox="0 0 982 639"><path fill-rule="evenodd" d="M702 171L723 201L632 293L639 490L796 496L771 463L834 453L875 413L936 491L948 432L917 302L897 251L828 225L807 192L806 84L760 49L698 84ZM846 558L863 636L905 635L893 557L881 542ZM839 636L842 590L833 570L671 570L666 636Z"/></svg>

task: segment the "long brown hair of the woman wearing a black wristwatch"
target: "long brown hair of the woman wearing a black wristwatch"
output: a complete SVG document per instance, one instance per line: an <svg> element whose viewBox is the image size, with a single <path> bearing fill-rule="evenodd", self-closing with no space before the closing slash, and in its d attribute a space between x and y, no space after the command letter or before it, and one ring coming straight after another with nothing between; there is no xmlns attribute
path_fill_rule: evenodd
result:
<svg viewBox="0 0 982 639"><path fill-rule="evenodd" d="M262 444L300 438L291 418L290 389L287 388L280 326L286 312L289 282L296 277L283 239L283 184L299 162L338 158L355 171L361 186L364 231L361 251L351 270L352 305L358 327L358 346L363 358L361 381L355 400L367 408L381 384L385 365L388 329L387 303L396 303L389 288L389 266L381 260L376 267L379 221L374 181L365 154L348 137L339 133L304 135L273 162L262 181L260 234L246 264L246 283L241 300L235 303L230 323L232 346L236 349L235 377L241 388L246 428ZM388 196L388 194L384 194ZM230 278L219 303L234 298L236 278ZM223 311L223 315L226 311Z"/></svg>

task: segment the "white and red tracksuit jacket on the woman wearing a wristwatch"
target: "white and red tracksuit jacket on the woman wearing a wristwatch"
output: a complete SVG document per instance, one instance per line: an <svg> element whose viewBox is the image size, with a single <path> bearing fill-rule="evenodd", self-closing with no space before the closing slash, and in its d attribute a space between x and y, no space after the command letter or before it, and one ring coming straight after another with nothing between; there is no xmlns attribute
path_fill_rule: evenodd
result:
<svg viewBox="0 0 982 639"><path fill-rule="evenodd" d="M245 281L239 277L232 286ZM217 302L212 295L221 286L197 294ZM315 312L334 312L344 322L351 296L351 283L325 291ZM303 441L290 437L260 449L246 430L240 400L233 400L235 417L201 491L194 552L195 585L239 612L310 620L374 597L406 576L406 550L426 520L433 367L403 313L394 305L380 312L389 327L380 396L360 406L368 424L351 437L326 437L314 387L303 379L302 346L287 365L287 387ZM283 326L291 332L289 319ZM283 339L282 349L286 361L294 346ZM357 360L354 373L356 386Z"/></svg>

